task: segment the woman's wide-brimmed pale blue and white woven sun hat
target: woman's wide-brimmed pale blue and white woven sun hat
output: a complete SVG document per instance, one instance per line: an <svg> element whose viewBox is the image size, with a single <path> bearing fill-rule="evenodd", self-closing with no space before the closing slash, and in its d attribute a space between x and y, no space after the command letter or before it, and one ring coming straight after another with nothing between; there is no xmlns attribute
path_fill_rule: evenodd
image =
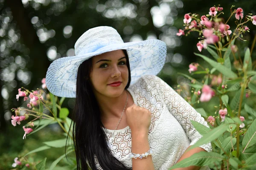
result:
<svg viewBox="0 0 256 170"><path fill-rule="evenodd" d="M55 60L46 74L46 86L55 96L76 98L76 77L85 60L108 51L125 49L128 53L131 84L143 75L156 75L166 59L166 43L160 40L124 43L116 29L109 26L91 28L79 37L75 55Z"/></svg>

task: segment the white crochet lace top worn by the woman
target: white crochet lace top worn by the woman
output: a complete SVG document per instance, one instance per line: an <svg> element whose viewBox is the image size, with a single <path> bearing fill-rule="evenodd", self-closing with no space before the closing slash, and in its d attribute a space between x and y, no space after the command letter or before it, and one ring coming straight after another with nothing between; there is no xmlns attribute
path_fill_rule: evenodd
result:
<svg viewBox="0 0 256 170"><path fill-rule="evenodd" d="M154 154L152 160L155 170L168 170L182 156L185 150L202 136L189 120L195 120L209 127L204 118L192 108L166 82L157 76L147 75L130 85L128 91L134 103L151 111L151 125L148 132L149 146ZM110 140L109 132L105 133ZM132 167L131 130L127 126L115 131L115 139L109 144L113 156L126 167ZM200 146L207 152L212 151L211 143ZM96 159L96 167L102 168ZM208 166L200 170L209 170Z"/></svg>

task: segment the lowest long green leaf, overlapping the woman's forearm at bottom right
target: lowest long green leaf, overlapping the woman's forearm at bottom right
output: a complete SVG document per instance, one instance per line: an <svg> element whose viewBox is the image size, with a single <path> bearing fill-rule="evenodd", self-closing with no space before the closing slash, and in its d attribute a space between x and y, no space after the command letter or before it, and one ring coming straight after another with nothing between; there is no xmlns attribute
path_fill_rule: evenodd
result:
<svg viewBox="0 0 256 170"><path fill-rule="evenodd" d="M189 158L183 159L182 161L172 166L169 170L172 170L178 167L189 167L192 165L203 167L215 161L222 161L223 159L224 159L224 156L221 156L218 153L202 151L202 152L193 154Z"/></svg>

